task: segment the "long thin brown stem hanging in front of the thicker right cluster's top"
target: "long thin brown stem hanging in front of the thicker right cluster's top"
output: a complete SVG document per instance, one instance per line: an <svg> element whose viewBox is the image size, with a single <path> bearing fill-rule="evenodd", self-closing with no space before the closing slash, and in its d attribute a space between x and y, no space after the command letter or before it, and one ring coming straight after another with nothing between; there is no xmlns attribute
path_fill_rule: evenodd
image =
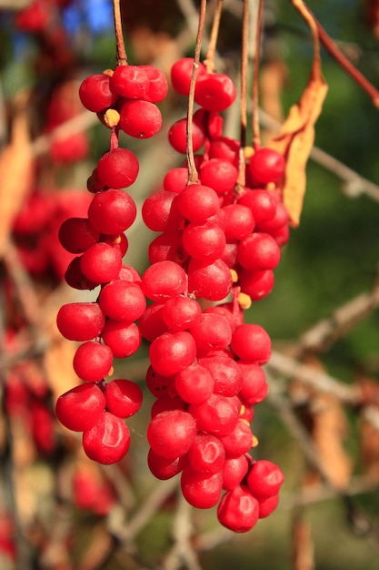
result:
<svg viewBox="0 0 379 570"><path fill-rule="evenodd" d="M194 164L192 122L194 117L194 87L196 85L196 76L200 61L200 51L201 51L203 32L204 32L205 12L206 12L206 0L202 0L199 11L199 23L197 27L196 44L194 46L194 68L192 70L191 83L188 94L187 128L186 128L186 157L188 165L187 185L198 184L199 182L197 168L196 165Z"/></svg>

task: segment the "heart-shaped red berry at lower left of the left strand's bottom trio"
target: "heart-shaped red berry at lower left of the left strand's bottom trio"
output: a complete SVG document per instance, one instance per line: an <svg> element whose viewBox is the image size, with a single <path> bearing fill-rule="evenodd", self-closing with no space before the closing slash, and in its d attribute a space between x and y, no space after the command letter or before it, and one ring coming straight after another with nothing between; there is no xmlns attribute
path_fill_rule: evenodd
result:
<svg viewBox="0 0 379 570"><path fill-rule="evenodd" d="M74 432L92 428L105 410L105 395L95 383L79 384L65 392L55 403L59 422Z"/></svg>

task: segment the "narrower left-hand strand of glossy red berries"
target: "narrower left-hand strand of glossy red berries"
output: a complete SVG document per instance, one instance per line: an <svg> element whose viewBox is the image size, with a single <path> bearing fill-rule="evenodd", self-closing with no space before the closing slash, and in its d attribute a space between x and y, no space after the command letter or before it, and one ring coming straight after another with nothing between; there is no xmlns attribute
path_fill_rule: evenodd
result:
<svg viewBox="0 0 379 570"><path fill-rule="evenodd" d="M143 396L129 380L105 382L114 359L140 347L135 321L146 307L140 275L123 264L125 230L135 221L136 207L122 188L135 182L139 164L132 151L118 146L118 129L152 137L162 124L155 103L166 92L165 76L153 66L117 66L114 72L86 77L79 89L84 106L112 129L111 149L88 180L94 198L86 217L68 218L59 229L61 245L75 254L66 282L78 290L100 287L100 292L96 301L67 303L58 311L61 334L81 342L73 366L85 383L60 396L55 410L65 427L83 432L85 453L99 463L118 462L127 453L130 433L124 420L139 410Z"/></svg>

